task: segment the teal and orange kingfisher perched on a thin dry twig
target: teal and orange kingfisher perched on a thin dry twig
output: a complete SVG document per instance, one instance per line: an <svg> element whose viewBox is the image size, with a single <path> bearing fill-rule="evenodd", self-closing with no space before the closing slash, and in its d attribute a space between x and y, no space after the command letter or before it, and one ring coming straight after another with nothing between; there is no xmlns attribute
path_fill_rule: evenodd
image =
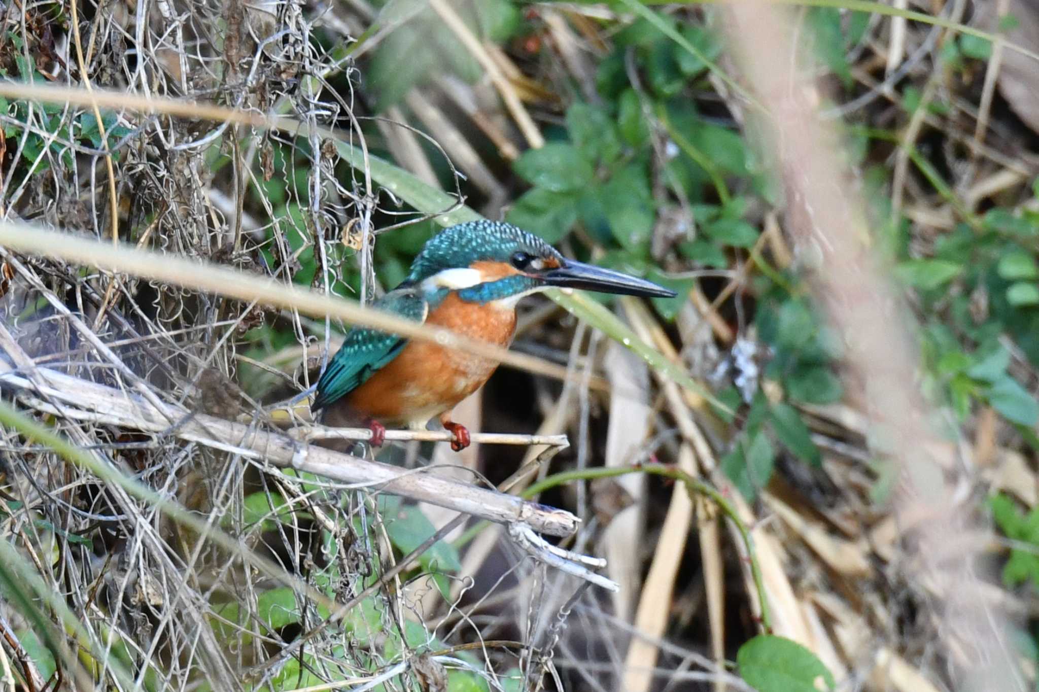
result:
<svg viewBox="0 0 1039 692"><path fill-rule="evenodd" d="M675 295L652 282L564 258L510 223L480 220L430 238L407 277L372 307L505 347L512 342L520 299L553 287ZM433 342L356 326L318 379L311 408L323 409L326 425L368 427L374 447L384 442L385 425L423 429L438 418L452 433L451 448L459 452L469 447L470 434L451 420L451 410L498 365Z"/></svg>

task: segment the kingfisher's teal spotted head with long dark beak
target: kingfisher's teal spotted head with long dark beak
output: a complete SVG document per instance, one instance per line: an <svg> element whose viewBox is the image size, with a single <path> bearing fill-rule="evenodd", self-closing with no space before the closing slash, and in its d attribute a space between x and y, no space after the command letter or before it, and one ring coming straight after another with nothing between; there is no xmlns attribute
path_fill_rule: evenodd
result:
<svg viewBox="0 0 1039 692"><path fill-rule="evenodd" d="M651 282L564 258L534 234L502 221L471 221L441 232L415 259L407 283L427 293L457 291L471 302L511 302L553 287L674 295Z"/></svg>

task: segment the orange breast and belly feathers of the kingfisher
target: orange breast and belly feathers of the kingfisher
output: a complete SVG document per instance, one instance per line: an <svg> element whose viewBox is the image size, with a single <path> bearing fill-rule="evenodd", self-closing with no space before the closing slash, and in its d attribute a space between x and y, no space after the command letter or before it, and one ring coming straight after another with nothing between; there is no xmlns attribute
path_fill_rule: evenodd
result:
<svg viewBox="0 0 1039 692"><path fill-rule="evenodd" d="M452 292L430 311L426 324L508 346L516 314L494 303L465 302ZM347 404L361 417L382 423L422 424L480 389L498 365L498 361L428 341L411 341L400 355L347 395Z"/></svg>

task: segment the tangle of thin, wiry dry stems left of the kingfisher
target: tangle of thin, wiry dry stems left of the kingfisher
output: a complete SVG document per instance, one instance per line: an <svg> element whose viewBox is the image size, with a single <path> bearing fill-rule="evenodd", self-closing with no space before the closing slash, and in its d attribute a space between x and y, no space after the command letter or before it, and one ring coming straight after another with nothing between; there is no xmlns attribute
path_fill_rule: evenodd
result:
<svg viewBox="0 0 1039 692"><path fill-rule="evenodd" d="M83 12L82 5L78 9ZM338 261L349 227L362 239L358 297L371 295L372 214L385 203L383 211L397 212L393 199L379 198L365 170L345 181L335 175L339 156L324 145L318 127L345 124L361 145L363 135L351 112L352 94L319 100L316 88L344 70L349 77L350 68L342 55L316 48L315 18L301 5L157 0L135 9L106 7L74 23L72 31L83 35L57 47L42 45L50 34L35 30L44 19L34 11L21 3L0 6L0 35L18 35L25 54L31 49L54 56L37 68L59 82L214 102L261 117L285 113L313 134L300 141L232 122L122 111L99 126L119 134L102 135L103 147L95 149L68 132L62 136L61 127L81 128L84 113L100 112L96 107L30 104L20 123L23 134L6 142L14 160L24 163L0 170L7 218L85 231L97 239L117 236L286 284L301 259L313 256L315 282L326 292L341 288ZM347 36L341 37L348 46ZM5 66L21 57L11 44L0 46ZM30 156L31 134L44 137L45 147ZM294 154L279 156L285 148ZM308 194L295 199L297 213L278 217L270 195L291 198L297 189L285 181L296 181ZM150 402L155 410L187 407L205 411L199 419L219 417L211 422L260 412L257 397L267 393L244 392L233 382L245 362L241 336L271 317L265 305L8 256L5 270L16 266L18 275L4 284L3 318L11 332L5 351L10 363L21 361L20 372L30 379L41 375L34 366L46 365L107 392L124 392L128 402ZM304 354L323 357L327 320L315 324L295 311L272 319L295 335ZM278 385L299 391L308 377L305 368L279 373ZM34 383L46 384L46 377ZM351 680L368 689L402 673L423 674L408 657L383 649L387 641L414 646L434 633L448 644L479 640L480 628L452 606L460 595L430 612L417 609L414 592L428 590L428 578L409 585L398 574L372 583L371 576L394 559L373 494L272 474L262 457L234 446L184 442L184 435L178 442L177 433L198 419L157 429L126 425L111 407L100 416L76 416L68 401L43 400L55 432L239 543L229 550L199 539L154 504L4 428L7 479L19 504L7 507L3 533L80 617L89 639L81 643L95 656L87 669L98 685L128 689L143 681L180 690L205 682L212 689L239 689L296 674L298 681ZM261 496L283 500L257 513L248 503ZM244 559L252 552L293 577L295 586L274 588L276 580ZM408 563L414 557L407 556ZM521 575L532 570L540 568L518 567ZM346 614L345 626L326 621L312 630L326 614L309 591L349 603L366 587L371 595ZM264 601L271 594L278 600L274 606ZM358 618L362 610L365 617ZM6 634L24 632L18 612L4 611ZM448 614L460 617L452 630L437 631ZM312 630L305 647L297 658L278 657L299 628ZM514 665L517 651L491 644L477 655L461 660L449 651L434 657L433 667L473 667L486 675L482 671ZM485 665L478 664L480 657ZM277 665L265 665L271 661ZM37 688L46 683L33 675Z"/></svg>

